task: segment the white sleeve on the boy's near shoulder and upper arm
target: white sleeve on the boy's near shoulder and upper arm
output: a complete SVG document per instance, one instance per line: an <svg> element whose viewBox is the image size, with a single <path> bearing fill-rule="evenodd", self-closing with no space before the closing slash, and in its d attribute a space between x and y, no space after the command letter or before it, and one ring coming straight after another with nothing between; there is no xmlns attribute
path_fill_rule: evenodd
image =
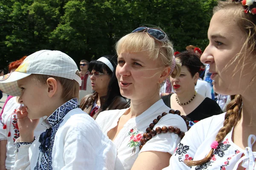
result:
<svg viewBox="0 0 256 170"><path fill-rule="evenodd" d="M88 118L87 118L88 119ZM93 121L93 122L92 122ZM94 120L68 126L61 170L113 170L116 150ZM84 155L86 154L86 156Z"/></svg>

